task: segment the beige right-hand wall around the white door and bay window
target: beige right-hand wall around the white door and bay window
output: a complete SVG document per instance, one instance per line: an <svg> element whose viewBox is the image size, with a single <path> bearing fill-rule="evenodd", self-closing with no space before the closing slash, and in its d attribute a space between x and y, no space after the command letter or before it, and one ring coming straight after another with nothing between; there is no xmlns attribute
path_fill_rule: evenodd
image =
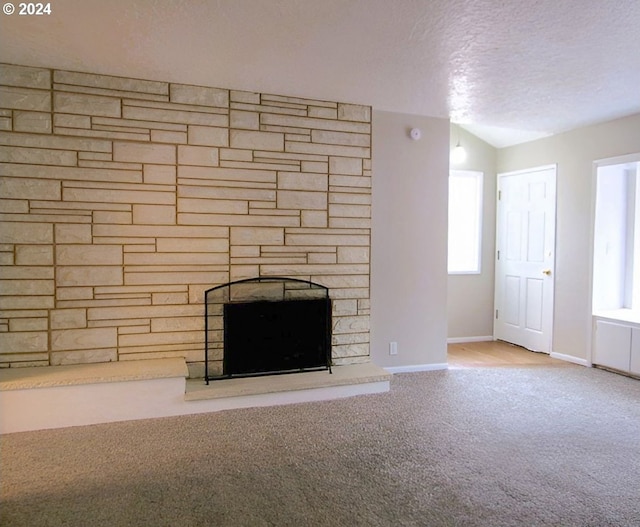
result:
<svg viewBox="0 0 640 527"><path fill-rule="evenodd" d="M557 163L553 351L588 360L594 165L640 152L640 114L498 151L497 172Z"/></svg>

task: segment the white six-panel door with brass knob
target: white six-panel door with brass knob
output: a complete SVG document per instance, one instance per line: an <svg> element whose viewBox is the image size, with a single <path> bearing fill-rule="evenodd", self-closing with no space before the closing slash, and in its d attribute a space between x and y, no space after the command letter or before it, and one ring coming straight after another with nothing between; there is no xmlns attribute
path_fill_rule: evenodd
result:
<svg viewBox="0 0 640 527"><path fill-rule="evenodd" d="M498 174L494 337L551 352L556 167Z"/></svg>

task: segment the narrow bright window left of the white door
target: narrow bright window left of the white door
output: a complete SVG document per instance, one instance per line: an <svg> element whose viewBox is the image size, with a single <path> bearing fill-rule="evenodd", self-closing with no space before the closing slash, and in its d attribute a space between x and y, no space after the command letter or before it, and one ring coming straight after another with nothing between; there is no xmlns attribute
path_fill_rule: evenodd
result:
<svg viewBox="0 0 640 527"><path fill-rule="evenodd" d="M449 172L449 274L480 273L482 172Z"/></svg>

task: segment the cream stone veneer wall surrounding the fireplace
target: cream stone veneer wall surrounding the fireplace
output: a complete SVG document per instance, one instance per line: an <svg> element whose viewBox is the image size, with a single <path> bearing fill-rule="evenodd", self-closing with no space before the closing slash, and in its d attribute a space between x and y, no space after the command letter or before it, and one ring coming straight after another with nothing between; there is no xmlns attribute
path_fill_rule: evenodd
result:
<svg viewBox="0 0 640 527"><path fill-rule="evenodd" d="M329 287L368 361L371 109L0 66L0 366L185 357L204 290ZM293 90L293 89L292 89Z"/></svg>

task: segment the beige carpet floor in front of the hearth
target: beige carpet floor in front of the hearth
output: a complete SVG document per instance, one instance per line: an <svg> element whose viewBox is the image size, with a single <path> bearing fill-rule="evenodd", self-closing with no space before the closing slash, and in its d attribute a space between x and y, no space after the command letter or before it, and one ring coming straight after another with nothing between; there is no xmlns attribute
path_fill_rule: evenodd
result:
<svg viewBox="0 0 640 527"><path fill-rule="evenodd" d="M347 399L9 434L3 526L640 526L640 381L395 375Z"/></svg>

